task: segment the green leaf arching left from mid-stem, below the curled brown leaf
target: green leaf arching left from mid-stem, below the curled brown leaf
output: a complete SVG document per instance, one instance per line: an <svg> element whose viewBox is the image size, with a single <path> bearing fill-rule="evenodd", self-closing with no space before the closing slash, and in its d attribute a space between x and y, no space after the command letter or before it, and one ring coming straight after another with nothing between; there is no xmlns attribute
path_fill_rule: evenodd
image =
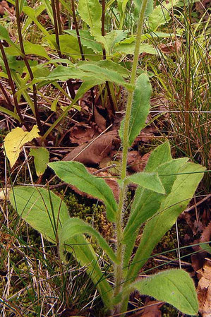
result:
<svg viewBox="0 0 211 317"><path fill-rule="evenodd" d="M80 191L88 193L104 202L109 221L115 221L117 204L110 187L104 179L88 173L84 165L79 162L52 162L49 167L66 183L76 186Z"/></svg>

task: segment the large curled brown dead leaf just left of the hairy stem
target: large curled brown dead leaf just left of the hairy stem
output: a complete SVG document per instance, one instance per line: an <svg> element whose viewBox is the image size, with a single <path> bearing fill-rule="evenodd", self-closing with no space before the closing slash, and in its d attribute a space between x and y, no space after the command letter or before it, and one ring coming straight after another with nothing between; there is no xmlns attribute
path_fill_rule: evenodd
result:
<svg viewBox="0 0 211 317"><path fill-rule="evenodd" d="M93 138L89 143L79 145L68 153L63 160L75 160L84 165L97 165L104 159L104 157L109 156L109 153L113 148L113 142L116 142L115 138L117 139L116 130L104 133L96 140Z"/></svg>

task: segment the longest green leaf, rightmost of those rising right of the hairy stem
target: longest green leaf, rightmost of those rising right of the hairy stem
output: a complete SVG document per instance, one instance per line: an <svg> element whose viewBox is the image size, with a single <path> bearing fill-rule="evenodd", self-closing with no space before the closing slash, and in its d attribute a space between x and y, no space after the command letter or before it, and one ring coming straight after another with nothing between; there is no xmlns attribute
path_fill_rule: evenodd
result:
<svg viewBox="0 0 211 317"><path fill-rule="evenodd" d="M156 244L171 229L177 217L186 209L203 177L204 171L205 167L194 163L185 163L179 170L180 174L177 175L171 192L162 201L154 217L145 225L140 245L128 270L128 279L135 278Z"/></svg>

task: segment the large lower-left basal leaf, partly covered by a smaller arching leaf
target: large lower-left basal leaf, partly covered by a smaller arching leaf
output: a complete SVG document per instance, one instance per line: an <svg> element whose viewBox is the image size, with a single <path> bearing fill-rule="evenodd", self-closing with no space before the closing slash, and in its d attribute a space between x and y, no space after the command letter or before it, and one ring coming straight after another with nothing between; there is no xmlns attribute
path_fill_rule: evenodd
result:
<svg viewBox="0 0 211 317"><path fill-rule="evenodd" d="M70 219L66 205L59 196L46 189L37 187L14 187L10 192L10 201L20 215L29 225L44 235L45 239L56 242L61 228ZM92 282L97 285L105 306L111 304L112 290L100 270L97 257L90 242L83 234L68 239L66 250L73 253L78 263L87 266L87 273Z"/></svg>

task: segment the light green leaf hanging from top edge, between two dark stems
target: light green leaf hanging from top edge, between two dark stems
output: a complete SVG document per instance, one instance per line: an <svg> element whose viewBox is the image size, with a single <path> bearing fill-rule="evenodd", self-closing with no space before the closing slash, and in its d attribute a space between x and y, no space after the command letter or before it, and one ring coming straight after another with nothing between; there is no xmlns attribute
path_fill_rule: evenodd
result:
<svg viewBox="0 0 211 317"><path fill-rule="evenodd" d="M102 43L106 51L107 42L101 34L102 6L98 0L79 0L78 13L90 27L90 33L95 39Z"/></svg>

